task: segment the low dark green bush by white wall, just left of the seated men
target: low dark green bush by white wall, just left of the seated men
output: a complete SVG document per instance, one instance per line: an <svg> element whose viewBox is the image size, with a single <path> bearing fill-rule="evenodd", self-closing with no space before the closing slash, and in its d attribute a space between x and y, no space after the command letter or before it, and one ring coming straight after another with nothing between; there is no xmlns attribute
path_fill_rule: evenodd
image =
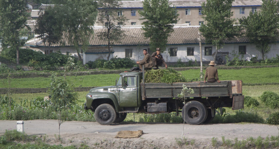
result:
<svg viewBox="0 0 279 149"><path fill-rule="evenodd" d="M135 62L130 58L112 58L109 61L104 62L104 68L116 69L116 68L131 68L135 65Z"/></svg>

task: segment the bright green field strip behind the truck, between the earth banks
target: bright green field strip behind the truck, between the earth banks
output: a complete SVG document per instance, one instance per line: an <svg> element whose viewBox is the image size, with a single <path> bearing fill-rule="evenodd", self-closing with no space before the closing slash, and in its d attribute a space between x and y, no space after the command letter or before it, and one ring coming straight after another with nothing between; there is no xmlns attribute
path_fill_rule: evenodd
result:
<svg viewBox="0 0 279 149"><path fill-rule="evenodd" d="M199 78L199 69L190 69L180 72L186 79ZM204 70L205 73L205 70ZM244 85L264 85L279 83L279 68L244 68L244 69L219 69L219 80L242 80ZM118 74L68 76L75 87L110 86L118 79ZM10 83L8 83L10 81ZM0 79L0 88L46 88L50 84L50 78L22 78ZM8 85L9 84L9 85Z"/></svg>

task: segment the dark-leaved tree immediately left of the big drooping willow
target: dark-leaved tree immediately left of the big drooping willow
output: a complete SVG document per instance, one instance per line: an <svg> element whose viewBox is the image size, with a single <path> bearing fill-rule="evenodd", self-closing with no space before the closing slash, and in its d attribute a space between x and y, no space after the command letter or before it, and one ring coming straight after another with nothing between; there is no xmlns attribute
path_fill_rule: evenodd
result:
<svg viewBox="0 0 279 149"><path fill-rule="evenodd" d="M46 42L48 43L48 54L50 53L50 45L57 43L62 37L62 24L59 15L57 15L59 12L57 12L56 7L47 7L46 10L40 12L35 29L44 45L46 46Z"/></svg>

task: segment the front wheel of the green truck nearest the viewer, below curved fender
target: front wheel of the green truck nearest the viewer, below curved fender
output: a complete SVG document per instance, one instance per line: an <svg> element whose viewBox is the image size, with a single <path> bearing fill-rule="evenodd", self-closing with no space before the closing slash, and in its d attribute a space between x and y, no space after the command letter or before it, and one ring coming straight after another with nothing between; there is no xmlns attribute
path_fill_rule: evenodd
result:
<svg viewBox="0 0 279 149"><path fill-rule="evenodd" d="M96 108L94 116L99 124L110 125L116 119L116 111L112 105L104 103Z"/></svg>

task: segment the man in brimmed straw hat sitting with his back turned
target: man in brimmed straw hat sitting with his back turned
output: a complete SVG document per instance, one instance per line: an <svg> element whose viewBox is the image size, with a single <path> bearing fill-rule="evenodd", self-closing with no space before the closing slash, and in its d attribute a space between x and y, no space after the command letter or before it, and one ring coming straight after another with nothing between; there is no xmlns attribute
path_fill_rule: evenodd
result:
<svg viewBox="0 0 279 149"><path fill-rule="evenodd" d="M220 83L221 81L218 78L217 68L214 67L215 61L214 60L210 61L208 65L210 66L206 68L205 75L204 75L204 83L206 83L206 78L207 78L207 82L209 83L213 83L216 81Z"/></svg>

